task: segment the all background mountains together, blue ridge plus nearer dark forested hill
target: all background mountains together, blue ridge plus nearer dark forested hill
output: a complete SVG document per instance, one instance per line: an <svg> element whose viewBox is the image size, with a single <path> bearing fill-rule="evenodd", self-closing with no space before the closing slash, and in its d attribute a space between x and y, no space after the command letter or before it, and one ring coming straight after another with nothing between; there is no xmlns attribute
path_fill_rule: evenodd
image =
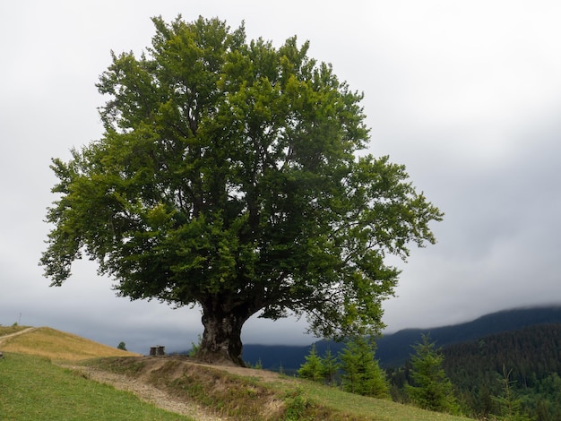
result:
<svg viewBox="0 0 561 421"><path fill-rule="evenodd" d="M466 415L489 417L501 412L505 382L510 400L520 404L522 419L561 420L561 307L515 309L472 322L430 330L408 329L377 340L375 357L393 384L394 400L408 401L412 345L429 335L443 348L444 370L453 382ZM337 355L344 344L315 343ZM245 359L264 368L294 373L310 347L246 346ZM505 374L508 377L505 379Z"/></svg>

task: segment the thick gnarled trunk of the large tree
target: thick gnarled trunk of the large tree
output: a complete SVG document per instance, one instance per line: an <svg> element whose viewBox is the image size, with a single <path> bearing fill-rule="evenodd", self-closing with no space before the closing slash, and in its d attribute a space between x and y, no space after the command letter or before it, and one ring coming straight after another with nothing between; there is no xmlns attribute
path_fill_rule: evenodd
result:
<svg viewBox="0 0 561 421"><path fill-rule="evenodd" d="M251 316L248 306L224 310L218 299L203 304L203 340L197 357L211 364L245 366L241 332Z"/></svg>

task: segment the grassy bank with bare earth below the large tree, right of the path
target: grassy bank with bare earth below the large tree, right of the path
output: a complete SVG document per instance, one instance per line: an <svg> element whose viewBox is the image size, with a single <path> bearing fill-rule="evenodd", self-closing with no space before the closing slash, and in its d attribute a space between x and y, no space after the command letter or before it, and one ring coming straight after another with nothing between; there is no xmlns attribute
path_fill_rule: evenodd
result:
<svg viewBox="0 0 561 421"><path fill-rule="evenodd" d="M260 421L468 421L392 400L252 368L201 365L186 356L102 358L89 363L155 386L221 419ZM198 418L197 418L198 419Z"/></svg>

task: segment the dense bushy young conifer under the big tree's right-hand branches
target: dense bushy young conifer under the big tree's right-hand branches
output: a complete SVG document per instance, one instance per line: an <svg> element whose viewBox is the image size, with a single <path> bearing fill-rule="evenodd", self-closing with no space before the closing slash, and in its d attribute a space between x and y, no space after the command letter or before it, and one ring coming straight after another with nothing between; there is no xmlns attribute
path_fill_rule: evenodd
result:
<svg viewBox="0 0 561 421"><path fill-rule="evenodd" d="M343 391L359 395L387 398L388 382L385 372L375 359L375 344L358 336L349 339L340 354Z"/></svg>

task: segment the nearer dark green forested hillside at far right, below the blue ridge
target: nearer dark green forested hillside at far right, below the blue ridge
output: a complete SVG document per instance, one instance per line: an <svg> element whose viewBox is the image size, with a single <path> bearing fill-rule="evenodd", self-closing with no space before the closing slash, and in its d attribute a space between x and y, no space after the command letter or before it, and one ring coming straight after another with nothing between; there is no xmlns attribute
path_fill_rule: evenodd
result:
<svg viewBox="0 0 561 421"><path fill-rule="evenodd" d="M538 324L488 335L443 349L444 370L464 411L473 417L498 414L505 395L505 373L512 400L539 421L561 419L561 323ZM388 370L393 394L403 398L410 363Z"/></svg>

